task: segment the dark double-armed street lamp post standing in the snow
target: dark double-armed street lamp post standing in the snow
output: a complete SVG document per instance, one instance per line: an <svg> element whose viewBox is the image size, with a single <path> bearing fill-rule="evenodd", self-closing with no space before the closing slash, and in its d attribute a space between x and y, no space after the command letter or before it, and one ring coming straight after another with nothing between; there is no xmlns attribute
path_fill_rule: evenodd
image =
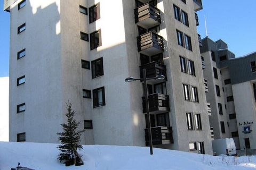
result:
<svg viewBox="0 0 256 170"><path fill-rule="evenodd" d="M143 78L142 79L135 79L133 77L126 78L125 82L132 82L136 80L142 80L144 82L144 94L145 94L145 101L146 101L146 111L147 111L147 125L148 125L148 137L149 137L149 147L150 147L150 155L153 155L153 143L152 143L152 135L151 135L151 124L150 124L150 115L149 115L149 104L148 104L148 88L147 88L147 80L164 80L164 75L158 75L155 78L147 78L146 76L146 69L143 69Z"/></svg>

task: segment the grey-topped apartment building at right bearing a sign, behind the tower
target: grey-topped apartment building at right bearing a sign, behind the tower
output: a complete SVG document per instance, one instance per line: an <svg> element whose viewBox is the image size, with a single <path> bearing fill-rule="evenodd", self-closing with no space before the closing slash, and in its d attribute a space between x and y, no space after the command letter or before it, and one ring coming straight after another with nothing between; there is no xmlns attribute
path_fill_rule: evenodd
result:
<svg viewBox="0 0 256 170"><path fill-rule="evenodd" d="M204 78L214 138L233 138L237 149L255 149L256 53L235 57L223 40L202 40Z"/></svg>

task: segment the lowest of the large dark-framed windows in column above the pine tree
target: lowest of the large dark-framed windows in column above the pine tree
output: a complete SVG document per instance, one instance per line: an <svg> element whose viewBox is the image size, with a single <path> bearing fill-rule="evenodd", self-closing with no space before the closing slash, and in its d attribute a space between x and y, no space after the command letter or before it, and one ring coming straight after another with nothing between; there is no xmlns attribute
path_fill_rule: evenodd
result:
<svg viewBox="0 0 256 170"><path fill-rule="evenodd" d="M93 94L93 107L105 106L105 88L101 87L92 90Z"/></svg>

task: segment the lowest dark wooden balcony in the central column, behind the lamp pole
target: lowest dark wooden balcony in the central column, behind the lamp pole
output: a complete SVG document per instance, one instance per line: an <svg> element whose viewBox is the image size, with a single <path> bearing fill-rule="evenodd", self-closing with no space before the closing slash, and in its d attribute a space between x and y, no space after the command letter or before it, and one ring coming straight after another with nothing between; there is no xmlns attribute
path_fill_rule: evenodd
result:
<svg viewBox="0 0 256 170"><path fill-rule="evenodd" d="M172 127L157 126L151 128L153 145L164 145L173 143ZM148 129L145 129L146 146L149 146Z"/></svg>

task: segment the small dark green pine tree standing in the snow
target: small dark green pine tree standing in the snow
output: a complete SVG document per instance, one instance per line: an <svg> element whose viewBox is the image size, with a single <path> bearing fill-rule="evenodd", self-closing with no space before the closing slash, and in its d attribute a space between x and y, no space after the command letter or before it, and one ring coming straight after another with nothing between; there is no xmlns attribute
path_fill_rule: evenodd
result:
<svg viewBox="0 0 256 170"><path fill-rule="evenodd" d="M72 111L72 104L68 101L67 113L65 114L68 122L61 124L63 132L57 133L59 135L59 140L62 145L59 145L57 148L60 150L58 159L60 162L65 161L66 166L69 165L83 165L83 160L78 154L77 149L83 149L82 145L79 144L81 141L82 131L77 131L78 125L80 122L76 122L74 119L75 112Z"/></svg>

